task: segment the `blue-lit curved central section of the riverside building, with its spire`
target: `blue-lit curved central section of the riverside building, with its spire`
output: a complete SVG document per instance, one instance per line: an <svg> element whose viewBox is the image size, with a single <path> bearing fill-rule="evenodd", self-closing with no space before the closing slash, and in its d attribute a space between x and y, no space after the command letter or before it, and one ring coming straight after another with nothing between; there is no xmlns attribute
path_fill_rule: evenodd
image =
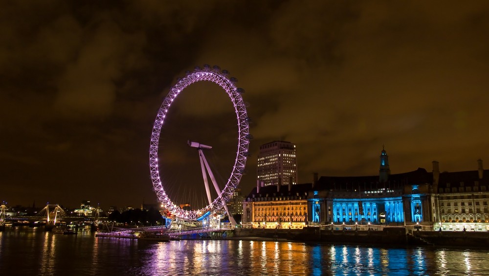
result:
<svg viewBox="0 0 489 276"><path fill-rule="evenodd" d="M328 177L310 191L311 223L400 224L429 221L433 214L430 175L419 168L390 174L385 150L380 154L378 176Z"/></svg>

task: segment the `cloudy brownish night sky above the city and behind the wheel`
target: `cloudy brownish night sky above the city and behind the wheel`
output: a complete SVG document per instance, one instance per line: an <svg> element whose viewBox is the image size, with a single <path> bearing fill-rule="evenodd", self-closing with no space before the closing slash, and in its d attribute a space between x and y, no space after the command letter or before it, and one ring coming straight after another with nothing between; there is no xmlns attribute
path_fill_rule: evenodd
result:
<svg viewBox="0 0 489 276"><path fill-rule="evenodd" d="M299 183L377 175L382 145L392 173L489 168L488 31L488 1L2 1L0 200L155 203L153 121L203 64L246 91L245 194L260 144L279 139L297 145ZM226 179L226 95L198 83L172 108L162 174L202 186L190 138L215 147Z"/></svg>

